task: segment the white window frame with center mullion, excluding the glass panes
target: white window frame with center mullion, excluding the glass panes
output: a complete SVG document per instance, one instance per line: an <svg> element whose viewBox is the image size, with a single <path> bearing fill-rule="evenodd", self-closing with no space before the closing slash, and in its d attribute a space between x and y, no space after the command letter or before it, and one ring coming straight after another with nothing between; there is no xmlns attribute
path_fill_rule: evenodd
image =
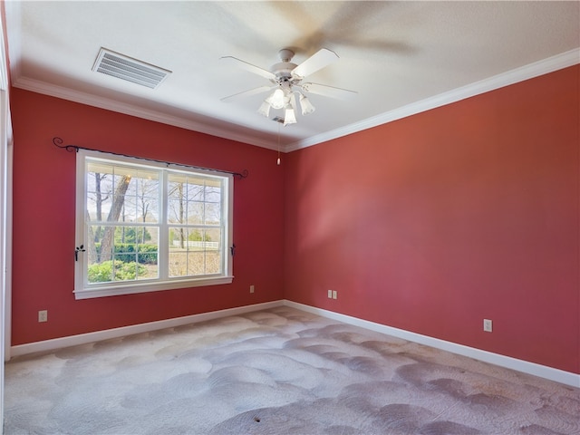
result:
<svg viewBox="0 0 580 435"><path fill-rule="evenodd" d="M74 297L75 299L89 299L93 297L103 297L112 295L131 295L136 293L157 292L160 290L171 290L178 288L198 287L205 285L224 285L231 284L234 276L232 275L232 256L230 247L233 246L233 204L234 204L234 179L233 175L228 173L218 174L215 171L205 169L194 169L180 165L168 165L164 162L143 160L109 154L100 151L78 150L76 158L76 223L75 223L75 247L86 246L87 227L86 227L86 204L87 204L87 159L104 160L113 164L126 164L142 169L160 170L162 180L160 183L160 258L158 265L160 267L160 278L148 279L143 281L115 282L102 284L88 284L88 256L79 252L77 261L74 263ZM175 167L174 167L175 166ZM169 254L169 231L167 228L173 224L168 223L167 209L167 177L169 172L184 172L191 175L203 175L209 177L218 177L224 181L224 192L227 198L224 198L222 208L223 224L226 226L224 237L221 240L221 250L224 257L224 270L220 275L207 276L184 276L168 277L163 270L168 267L167 256ZM161 252L164 250L164 252ZM165 258L165 260L161 259ZM163 277L165 276L165 277Z"/></svg>

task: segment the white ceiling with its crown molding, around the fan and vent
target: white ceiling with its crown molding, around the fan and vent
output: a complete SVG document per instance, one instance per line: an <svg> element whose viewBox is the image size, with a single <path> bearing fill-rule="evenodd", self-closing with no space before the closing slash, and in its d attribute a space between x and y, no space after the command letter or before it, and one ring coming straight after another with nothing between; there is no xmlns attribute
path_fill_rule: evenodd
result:
<svg viewBox="0 0 580 435"><path fill-rule="evenodd" d="M580 62L580 2L198 2L7 0L15 87L277 149L295 150ZM92 71L108 48L170 70L151 90ZM309 95L316 111L281 127L256 113L265 69L290 47L340 59L309 82L358 92ZM282 111L274 115L282 115Z"/></svg>

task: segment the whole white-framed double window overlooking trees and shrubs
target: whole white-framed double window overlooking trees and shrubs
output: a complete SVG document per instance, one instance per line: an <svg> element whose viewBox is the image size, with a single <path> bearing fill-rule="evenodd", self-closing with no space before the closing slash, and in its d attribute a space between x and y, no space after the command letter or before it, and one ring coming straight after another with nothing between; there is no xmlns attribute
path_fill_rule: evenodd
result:
<svg viewBox="0 0 580 435"><path fill-rule="evenodd" d="M232 190L231 175L79 150L75 297L231 283Z"/></svg>

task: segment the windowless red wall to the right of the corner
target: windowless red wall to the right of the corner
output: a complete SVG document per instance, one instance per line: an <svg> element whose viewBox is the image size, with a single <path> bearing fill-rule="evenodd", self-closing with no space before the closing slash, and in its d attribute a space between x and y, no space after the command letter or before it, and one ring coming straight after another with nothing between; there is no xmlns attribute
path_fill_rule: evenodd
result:
<svg viewBox="0 0 580 435"><path fill-rule="evenodd" d="M290 153L285 298L580 372L579 76Z"/></svg>

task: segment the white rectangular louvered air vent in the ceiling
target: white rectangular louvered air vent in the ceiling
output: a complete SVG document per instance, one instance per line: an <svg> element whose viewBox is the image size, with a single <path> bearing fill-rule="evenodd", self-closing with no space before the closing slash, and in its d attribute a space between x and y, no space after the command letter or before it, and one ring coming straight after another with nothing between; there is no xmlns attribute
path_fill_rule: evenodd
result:
<svg viewBox="0 0 580 435"><path fill-rule="evenodd" d="M92 71L111 75L151 89L157 88L171 73L169 70L164 70L159 66L140 62L104 48L101 48Z"/></svg>

